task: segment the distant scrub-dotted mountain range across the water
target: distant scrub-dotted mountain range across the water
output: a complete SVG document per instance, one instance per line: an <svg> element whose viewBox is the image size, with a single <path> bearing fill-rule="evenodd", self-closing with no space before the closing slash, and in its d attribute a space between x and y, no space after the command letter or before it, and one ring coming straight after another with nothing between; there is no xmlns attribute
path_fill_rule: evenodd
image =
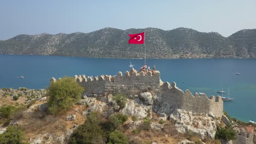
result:
<svg viewBox="0 0 256 144"><path fill-rule="evenodd" d="M243 29L223 37L189 28L103 28L90 33L22 34L0 41L0 55L143 58L144 45L128 44L128 34L143 31L148 58L256 58L256 29Z"/></svg>

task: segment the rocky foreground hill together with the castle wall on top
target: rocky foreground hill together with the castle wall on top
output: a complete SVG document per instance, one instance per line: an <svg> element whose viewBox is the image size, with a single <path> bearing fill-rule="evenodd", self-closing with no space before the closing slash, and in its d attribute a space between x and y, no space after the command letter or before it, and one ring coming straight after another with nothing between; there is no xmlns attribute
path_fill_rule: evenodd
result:
<svg viewBox="0 0 256 144"><path fill-rule="evenodd" d="M27 143L70 143L78 130L89 133L80 128L85 127L94 112L101 113L106 122L112 121L111 117L126 117L117 128L123 131L129 143L256 143L256 124L228 116L223 112L220 96L208 98L205 94L193 95L189 90L183 92L175 82L171 85L162 82L160 71L131 69L124 75L121 72L115 76L75 75L70 79L86 88L81 95L83 99L57 115L49 113L49 89L48 92L45 89L0 89L0 143L1 138L9 136L13 125L24 130L22 141ZM50 85L59 80L52 77ZM120 94L123 96L115 99ZM122 105L119 100L123 98ZM9 116L6 115L8 109L11 110Z"/></svg>

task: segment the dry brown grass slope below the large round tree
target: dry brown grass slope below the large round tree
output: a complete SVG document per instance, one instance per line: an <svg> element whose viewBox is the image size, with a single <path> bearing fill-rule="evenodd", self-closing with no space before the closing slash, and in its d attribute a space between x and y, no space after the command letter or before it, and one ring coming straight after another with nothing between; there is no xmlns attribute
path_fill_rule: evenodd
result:
<svg viewBox="0 0 256 144"><path fill-rule="evenodd" d="M39 102L37 101L36 104ZM83 124L85 118L82 112L86 109L85 106L75 105L65 113L59 115L50 115L45 112L33 111L23 113L19 120L19 125L25 130L26 139L37 137L39 134L51 133L61 135L68 129L71 129L75 124ZM76 115L75 121L66 121L66 116Z"/></svg>

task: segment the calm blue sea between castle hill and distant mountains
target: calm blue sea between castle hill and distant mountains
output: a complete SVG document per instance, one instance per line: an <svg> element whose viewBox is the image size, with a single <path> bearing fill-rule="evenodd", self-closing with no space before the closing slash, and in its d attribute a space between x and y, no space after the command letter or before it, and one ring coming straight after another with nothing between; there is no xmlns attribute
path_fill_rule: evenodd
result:
<svg viewBox="0 0 256 144"><path fill-rule="evenodd" d="M144 63L144 59L0 55L0 88L40 89L49 85L50 77L65 75L124 74L130 61L137 70ZM175 81L183 91L203 91L210 97L223 88L227 96L229 87L234 100L224 101L224 110L243 121L256 121L256 59L148 59L147 64L156 65L162 81Z"/></svg>

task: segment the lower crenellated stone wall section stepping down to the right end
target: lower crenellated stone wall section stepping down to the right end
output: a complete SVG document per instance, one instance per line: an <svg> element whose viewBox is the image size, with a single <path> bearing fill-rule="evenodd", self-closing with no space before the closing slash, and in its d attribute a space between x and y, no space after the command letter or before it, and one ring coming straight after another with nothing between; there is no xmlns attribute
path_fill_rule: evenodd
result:
<svg viewBox="0 0 256 144"><path fill-rule="evenodd" d="M214 116L222 117L223 101L219 96L216 99L214 96L208 99L205 94L202 96L193 95L188 89L184 93L176 87L175 82L172 83L172 86L165 82L161 86L161 97L163 102L167 102L171 106L171 109L182 109L203 114L212 112Z"/></svg>

